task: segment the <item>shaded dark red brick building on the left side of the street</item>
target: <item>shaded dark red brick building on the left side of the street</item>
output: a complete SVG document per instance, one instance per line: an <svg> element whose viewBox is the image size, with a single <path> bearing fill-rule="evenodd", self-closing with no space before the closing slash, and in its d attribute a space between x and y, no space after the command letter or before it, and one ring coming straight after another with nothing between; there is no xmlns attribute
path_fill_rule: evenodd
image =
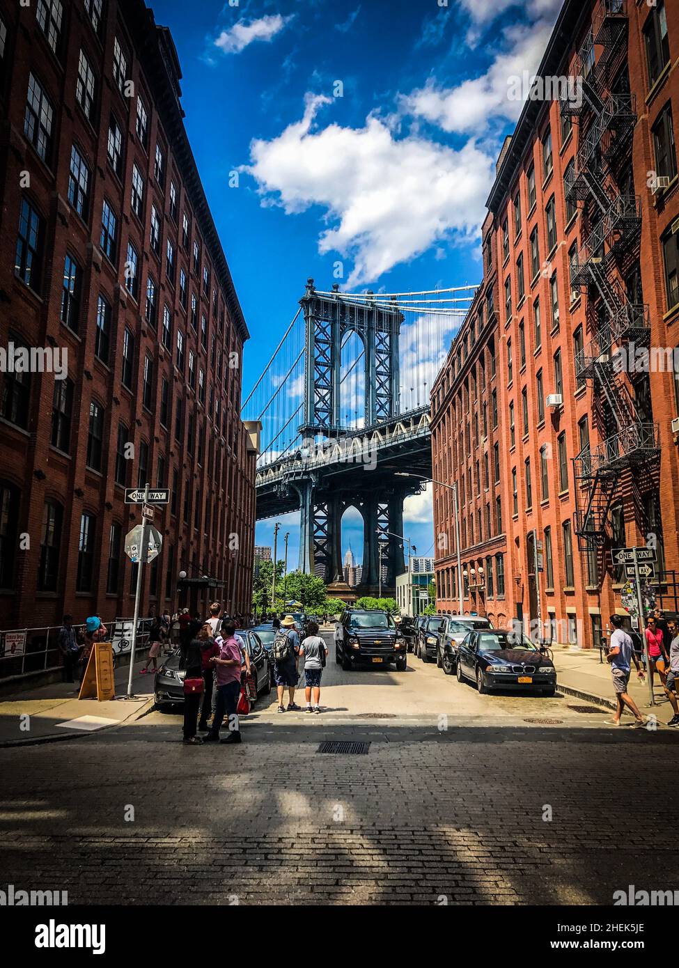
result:
<svg viewBox="0 0 679 968"><path fill-rule="evenodd" d="M0 373L0 627L132 614L145 481L170 503L143 610L250 608L248 332L180 78L142 0L0 0L0 347L68 353Z"/></svg>

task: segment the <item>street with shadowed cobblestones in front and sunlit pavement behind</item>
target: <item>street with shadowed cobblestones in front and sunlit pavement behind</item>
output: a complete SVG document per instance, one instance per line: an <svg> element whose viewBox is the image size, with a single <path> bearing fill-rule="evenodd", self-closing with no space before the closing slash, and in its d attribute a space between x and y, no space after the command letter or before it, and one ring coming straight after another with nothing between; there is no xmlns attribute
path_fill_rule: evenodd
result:
<svg viewBox="0 0 679 968"><path fill-rule="evenodd" d="M153 711L0 749L2 880L136 904L608 904L630 884L679 888L672 731L410 665L330 661L320 716L262 697L238 746L186 747L180 713Z"/></svg>

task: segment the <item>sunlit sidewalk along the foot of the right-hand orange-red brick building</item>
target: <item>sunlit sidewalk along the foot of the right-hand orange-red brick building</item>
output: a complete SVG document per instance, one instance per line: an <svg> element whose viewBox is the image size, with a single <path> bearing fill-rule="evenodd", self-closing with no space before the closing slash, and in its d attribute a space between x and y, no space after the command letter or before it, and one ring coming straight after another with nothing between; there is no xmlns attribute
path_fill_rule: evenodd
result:
<svg viewBox="0 0 679 968"><path fill-rule="evenodd" d="M611 679L610 666L605 661L599 661L598 649L555 649L554 666L557 674L557 689L567 695L584 699L598 706L606 706L611 710L616 708L615 692ZM654 694L659 704L649 707L648 680L641 682L632 670L630 677L630 695L644 715L654 712L661 719L669 720L672 709L664 694L660 679L656 676ZM631 716L631 713L626 713ZM632 718L632 716L631 716Z"/></svg>

